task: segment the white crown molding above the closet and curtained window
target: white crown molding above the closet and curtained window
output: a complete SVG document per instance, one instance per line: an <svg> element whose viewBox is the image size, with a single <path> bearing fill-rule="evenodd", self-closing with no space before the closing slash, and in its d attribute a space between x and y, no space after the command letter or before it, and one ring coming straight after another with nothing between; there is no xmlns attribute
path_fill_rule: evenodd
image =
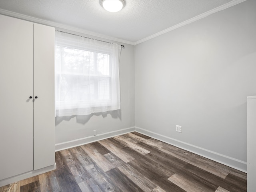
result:
<svg viewBox="0 0 256 192"><path fill-rule="evenodd" d="M60 24L60 23L56 23L56 22L52 22L52 21L48 21L48 20L43 20L43 19L27 16L27 15L24 15L24 14L11 12L11 11L8 11L8 10L0 9L0 14L6 15L6 16L11 16L11 17L14 17L14 18L19 18L19 19L22 19L22 20L27 20L27 21L30 21L30 22L38 23L38 24L44 24L44 25L48 25L48 26L52 26L52 27L56 27L56 28L62 28L62 29L66 29L66 30L70 30L70 31L74 31L74 32L79 32L79 33L86 34L86 35L96 36L96 37L104 38L104 39L107 39L107 40L112 40L112 41L117 41L117 42L121 42L121 43L134 45L134 42L130 42L130 41L126 41L126 40L106 36L104 34L91 32L91 31L80 29L80 28L74 28L72 26L68 26L68 25L64 25L64 24Z"/></svg>

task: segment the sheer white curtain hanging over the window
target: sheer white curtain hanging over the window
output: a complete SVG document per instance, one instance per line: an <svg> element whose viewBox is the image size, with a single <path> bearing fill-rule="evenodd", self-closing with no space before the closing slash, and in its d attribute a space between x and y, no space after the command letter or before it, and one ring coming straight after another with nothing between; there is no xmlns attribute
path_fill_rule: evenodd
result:
<svg viewBox="0 0 256 192"><path fill-rule="evenodd" d="M119 110L121 46L58 30L55 39L56 116Z"/></svg>

